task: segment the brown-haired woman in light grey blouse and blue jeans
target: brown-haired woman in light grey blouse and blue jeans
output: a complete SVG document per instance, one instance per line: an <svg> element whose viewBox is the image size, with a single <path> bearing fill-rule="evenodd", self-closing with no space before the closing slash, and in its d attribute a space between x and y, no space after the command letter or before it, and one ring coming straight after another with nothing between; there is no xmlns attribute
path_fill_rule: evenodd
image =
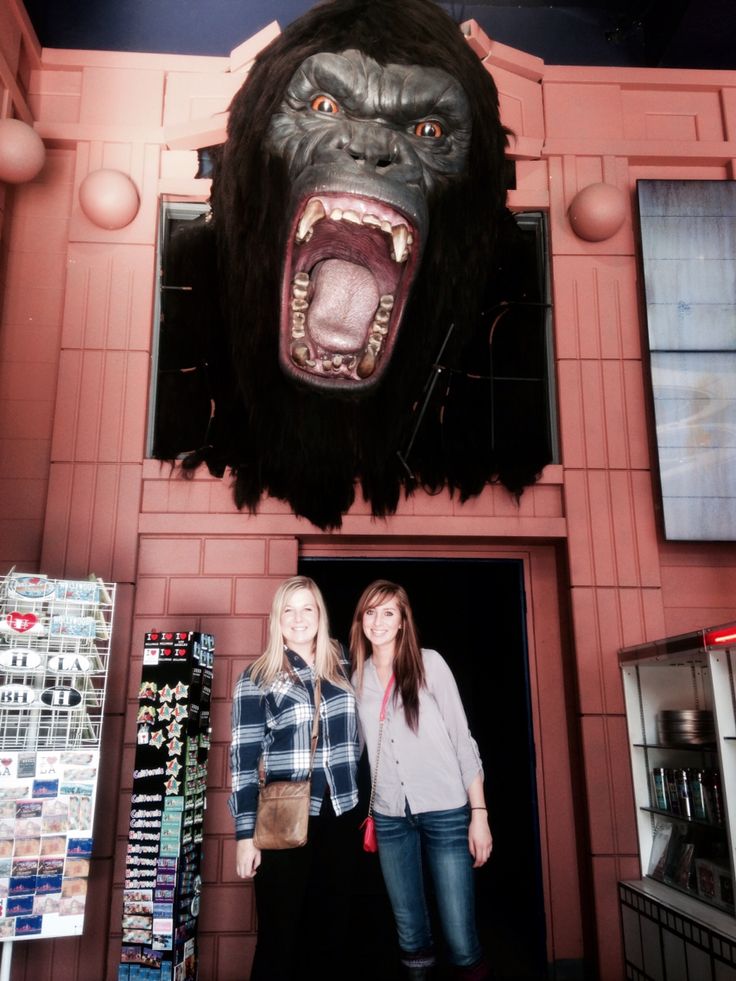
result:
<svg viewBox="0 0 736 981"><path fill-rule="evenodd" d="M473 869L488 860L492 838L482 764L455 679L437 651L419 647L406 591L387 580L363 592L350 650L375 785L378 856L406 977L424 981L436 959L424 852L456 976L488 978L476 927Z"/></svg>

